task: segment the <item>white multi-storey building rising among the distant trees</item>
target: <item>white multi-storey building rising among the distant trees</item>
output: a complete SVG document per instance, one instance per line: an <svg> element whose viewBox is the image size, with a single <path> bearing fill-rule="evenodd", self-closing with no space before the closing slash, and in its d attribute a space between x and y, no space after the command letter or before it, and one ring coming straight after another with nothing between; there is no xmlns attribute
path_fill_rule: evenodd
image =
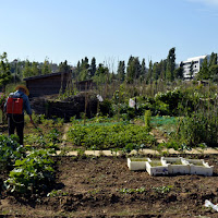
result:
<svg viewBox="0 0 218 218"><path fill-rule="evenodd" d="M199 69L202 66L202 63L204 61L204 59L207 58L207 61L209 61L210 56L199 56L199 57L195 57L195 58L189 58L186 61L183 61L183 76L184 78L191 78L191 74L190 74L190 68L191 68L191 63L193 62L193 77L195 77L195 75L199 72Z"/></svg>

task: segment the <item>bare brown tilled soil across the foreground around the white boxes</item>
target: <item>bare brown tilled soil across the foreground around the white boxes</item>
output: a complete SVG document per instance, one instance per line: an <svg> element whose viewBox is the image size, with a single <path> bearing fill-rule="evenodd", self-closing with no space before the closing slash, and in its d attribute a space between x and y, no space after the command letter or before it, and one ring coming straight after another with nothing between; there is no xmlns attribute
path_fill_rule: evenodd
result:
<svg viewBox="0 0 218 218"><path fill-rule="evenodd" d="M130 171L125 157L55 157L52 189L59 191L29 197L2 191L0 217L218 217L204 206L205 199L218 204L218 156L186 157L214 165L214 177L150 177L146 171ZM169 192L161 191L168 185ZM134 192L141 187L145 191Z"/></svg>

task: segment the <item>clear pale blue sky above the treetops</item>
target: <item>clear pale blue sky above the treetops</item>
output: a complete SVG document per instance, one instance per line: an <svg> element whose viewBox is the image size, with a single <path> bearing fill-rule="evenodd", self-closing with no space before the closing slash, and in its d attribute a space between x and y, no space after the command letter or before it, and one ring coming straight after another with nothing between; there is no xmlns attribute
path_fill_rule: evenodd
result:
<svg viewBox="0 0 218 218"><path fill-rule="evenodd" d="M0 55L53 63L93 57L116 71L218 52L218 0L0 0Z"/></svg>

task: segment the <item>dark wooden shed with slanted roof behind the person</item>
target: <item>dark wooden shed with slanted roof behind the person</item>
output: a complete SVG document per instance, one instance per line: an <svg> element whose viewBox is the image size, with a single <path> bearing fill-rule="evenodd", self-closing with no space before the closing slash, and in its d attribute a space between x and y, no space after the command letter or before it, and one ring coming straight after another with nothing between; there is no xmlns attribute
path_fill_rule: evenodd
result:
<svg viewBox="0 0 218 218"><path fill-rule="evenodd" d="M59 94L64 92L68 85L72 84L72 73L51 73L24 78L29 89L29 97Z"/></svg>

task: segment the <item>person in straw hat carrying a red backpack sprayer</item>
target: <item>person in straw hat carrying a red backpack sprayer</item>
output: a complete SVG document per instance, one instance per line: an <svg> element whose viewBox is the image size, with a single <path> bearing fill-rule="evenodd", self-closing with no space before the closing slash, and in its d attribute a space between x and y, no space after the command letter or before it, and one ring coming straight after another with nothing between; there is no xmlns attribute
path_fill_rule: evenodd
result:
<svg viewBox="0 0 218 218"><path fill-rule="evenodd" d="M15 93L9 94L4 104L4 111L7 112L9 125L9 135L14 134L14 131L16 130L20 145L23 145L24 138L24 110L29 116L31 123L34 124L28 95L28 88L24 85L19 85L15 88Z"/></svg>

